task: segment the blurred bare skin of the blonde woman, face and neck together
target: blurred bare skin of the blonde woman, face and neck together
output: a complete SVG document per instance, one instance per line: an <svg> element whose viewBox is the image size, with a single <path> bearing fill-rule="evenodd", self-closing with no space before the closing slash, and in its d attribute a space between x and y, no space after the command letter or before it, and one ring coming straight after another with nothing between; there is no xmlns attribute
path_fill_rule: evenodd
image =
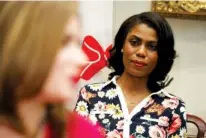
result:
<svg viewBox="0 0 206 138"><path fill-rule="evenodd" d="M56 60L51 67L48 78L42 91L37 97L19 102L17 110L24 123L27 133L36 138L43 138L42 125L46 113L47 103L68 103L75 95L73 77L78 75L79 68L87 60L86 55L80 50L80 30L76 17L68 20L65 27L63 47L57 52ZM78 58L76 56L78 55ZM32 109L32 110L31 110ZM7 138L25 138L9 127L1 126L0 135Z"/></svg>

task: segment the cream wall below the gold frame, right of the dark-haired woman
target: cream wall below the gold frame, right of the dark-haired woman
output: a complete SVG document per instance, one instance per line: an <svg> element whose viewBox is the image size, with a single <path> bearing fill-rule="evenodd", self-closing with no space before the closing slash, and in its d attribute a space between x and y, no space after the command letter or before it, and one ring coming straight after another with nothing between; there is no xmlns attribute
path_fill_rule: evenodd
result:
<svg viewBox="0 0 206 138"><path fill-rule="evenodd" d="M187 110L206 120L206 21L168 19L179 58L171 75L175 81L168 90L187 103Z"/></svg>

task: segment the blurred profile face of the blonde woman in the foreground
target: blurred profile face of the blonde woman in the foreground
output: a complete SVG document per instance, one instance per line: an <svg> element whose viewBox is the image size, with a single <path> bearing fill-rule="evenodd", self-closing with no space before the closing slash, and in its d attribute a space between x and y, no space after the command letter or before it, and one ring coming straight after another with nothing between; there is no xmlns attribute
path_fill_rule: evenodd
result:
<svg viewBox="0 0 206 138"><path fill-rule="evenodd" d="M43 102L68 102L75 96L74 77L87 60L80 50L80 26L76 17L69 19L65 28L66 38L38 97Z"/></svg>

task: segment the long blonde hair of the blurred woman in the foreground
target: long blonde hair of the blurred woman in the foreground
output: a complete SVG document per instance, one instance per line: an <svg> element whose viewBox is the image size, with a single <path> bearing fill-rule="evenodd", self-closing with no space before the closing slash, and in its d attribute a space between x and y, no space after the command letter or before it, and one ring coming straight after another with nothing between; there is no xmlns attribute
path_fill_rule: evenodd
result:
<svg viewBox="0 0 206 138"><path fill-rule="evenodd" d="M0 121L6 118L21 133L16 104L41 91L76 9L75 2L0 2ZM47 119L58 138L63 116L62 105L49 105Z"/></svg>

